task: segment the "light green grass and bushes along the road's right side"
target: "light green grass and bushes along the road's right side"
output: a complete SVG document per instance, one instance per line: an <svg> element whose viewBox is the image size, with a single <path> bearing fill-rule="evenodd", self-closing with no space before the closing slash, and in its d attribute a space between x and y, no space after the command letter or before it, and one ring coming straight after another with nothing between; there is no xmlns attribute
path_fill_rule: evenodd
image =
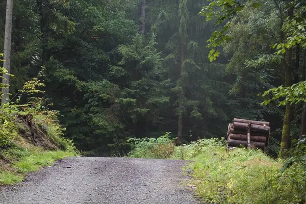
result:
<svg viewBox="0 0 306 204"><path fill-rule="evenodd" d="M306 203L303 156L295 160L302 158L303 163L291 162L284 168L284 161L274 160L261 150L227 151L224 139L175 146L166 134L132 141L130 157L193 160L192 183L203 203Z"/></svg>

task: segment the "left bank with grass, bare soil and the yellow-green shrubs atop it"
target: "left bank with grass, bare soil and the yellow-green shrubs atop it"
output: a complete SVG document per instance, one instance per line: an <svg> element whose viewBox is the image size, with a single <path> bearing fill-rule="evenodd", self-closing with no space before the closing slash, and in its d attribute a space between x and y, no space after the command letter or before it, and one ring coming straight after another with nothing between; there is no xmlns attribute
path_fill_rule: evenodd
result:
<svg viewBox="0 0 306 204"><path fill-rule="evenodd" d="M7 71L0 67L0 73L2 78ZM59 113L49 110L38 78L42 72L0 106L0 185L20 182L30 171L77 154L72 140L63 137Z"/></svg>

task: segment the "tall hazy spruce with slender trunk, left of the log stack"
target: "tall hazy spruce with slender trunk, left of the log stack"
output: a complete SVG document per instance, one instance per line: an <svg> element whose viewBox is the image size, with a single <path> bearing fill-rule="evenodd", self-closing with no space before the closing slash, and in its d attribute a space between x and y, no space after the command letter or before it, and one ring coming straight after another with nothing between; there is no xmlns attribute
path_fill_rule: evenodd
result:
<svg viewBox="0 0 306 204"><path fill-rule="evenodd" d="M226 114L218 108L218 105L222 103L217 103L220 97L226 98L228 84L218 82L222 77L210 79L207 76L209 71L214 70L217 76L220 70L223 70L224 73L224 66L217 63L209 65L207 57L203 57L205 54L202 54L207 52L207 48L206 40L201 37L208 32L209 28L207 23L201 22L203 18L197 15L196 8L200 8L202 4L202 1L191 0L166 1L162 5L162 10L156 14L157 20L154 21L152 27L152 31L158 32L159 44L164 44L167 48L164 66L167 67L168 76L174 85L171 96L175 98L173 106L176 107L175 112L178 118L178 143L183 140L186 115L194 118L197 124L215 117L220 117L222 120L228 119ZM192 13L189 12L189 9ZM156 9L151 8L151 12L156 12ZM197 54L199 52L200 55ZM216 88L219 85L225 85L226 88L218 92ZM217 96L214 98L215 101L212 101L213 96ZM193 127L198 129L197 125L192 125L189 121L190 119L185 122L189 129ZM199 128L202 129L202 125ZM206 128L206 130L201 130L200 134L204 135L210 131Z"/></svg>

